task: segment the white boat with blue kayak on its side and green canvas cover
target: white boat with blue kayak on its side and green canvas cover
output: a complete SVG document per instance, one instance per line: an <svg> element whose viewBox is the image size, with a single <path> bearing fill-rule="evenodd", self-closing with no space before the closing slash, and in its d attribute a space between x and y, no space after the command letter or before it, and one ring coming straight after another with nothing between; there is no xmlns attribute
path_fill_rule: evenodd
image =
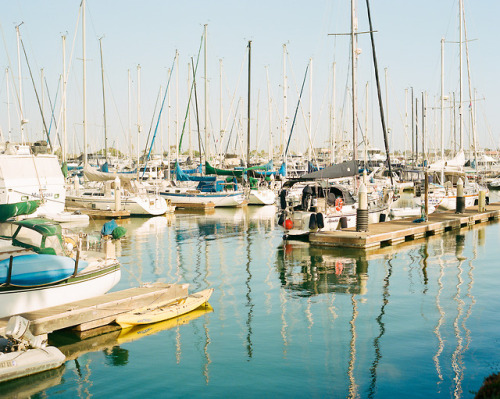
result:
<svg viewBox="0 0 500 399"><path fill-rule="evenodd" d="M63 236L59 223L0 223L0 318L102 295L121 277L110 237Z"/></svg>

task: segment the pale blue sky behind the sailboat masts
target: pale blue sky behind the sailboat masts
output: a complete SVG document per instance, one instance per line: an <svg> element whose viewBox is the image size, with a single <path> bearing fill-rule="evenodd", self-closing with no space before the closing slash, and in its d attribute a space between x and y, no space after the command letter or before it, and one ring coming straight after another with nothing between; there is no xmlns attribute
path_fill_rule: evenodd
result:
<svg viewBox="0 0 500 399"><path fill-rule="evenodd" d="M66 33L68 63L73 35L79 13L79 1L13 0L0 3L0 23L3 31L0 66L4 71L10 57L17 85L17 50L15 25L21 26L26 50L32 70L40 89L40 68L44 68L52 101L57 90L58 76L62 68L61 35ZM477 89L477 131L481 146L498 146L497 104L499 83L496 76L498 65L497 34L494 33L496 18L500 15L500 2L494 0L465 1L467 33L469 39L478 39L469 44L472 86ZM404 112L405 88L413 87L420 97L422 91L428 95L427 129L430 140L436 143L439 132L439 112L431 110L436 105L440 90L440 40L458 40L458 0L372 0L372 19L379 70L384 80L384 68L389 76L389 127L394 133L396 148L405 145ZM358 0L359 30L368 30L366 4ZM343 33L350 30L350 1L117 1L87 0L87 92L88 132L93 149L102 147L103 122L100 81L100 58L98 38L103 38L104 65L106 70L106 99L109 143L121 149L126 147L128 127L127 70L132 72L133 100L132 124L136 123L136 66L141 65L141 105L143 131L148 132L153 106L160 85L165 87L167 69L172 65L175 50L180 53L179 118L186 110L187 68L191 56L195 56L200 43L203 25L208 24L208 77L210 82L210 119L212 132L219 131L219 59L223 60L223 114L228 118L229 104L235 91L248 40L252 40L252 130L258 122L259 148L267 150L268 100L265 66L269 68L273 109L273 142L280 140L279 123L283 114L282 105L282 45L287 43L287 75L289 85L288 116L291 125L297 103L297 92L309 59L313 59L313 136L315 146L324 146L328 137L328 108L332 98L331 65L337 64L336 115L337 130L346 131L350 137L350 97L346 95L349 67L349 38L328 36L328 33ZM82 50L81 30L78 29L72 58L72 69L68 80L68 132L70 141L76 132L76 141L82 143ZM376 110L375 80L369 36L359 39L362 53L359 57L358 98L359 119L365 124L365 85L369 82L369 137L375 145L382 147L380 122ZM7 51L6 51L7 50ZM458 101L458 45L446 44L445 56L446 92L456 91ZM246 61L245 61L246 62ZM22 58L23 96L25 117L30 139L41 139L41 118L24 57ZM467 67L464 62L464 98L468 99ZM203 70L198 72L198 98L201 125L203 122ZM0 78L0 126L7 135L7 96L5 74ZM175 140L175 75L171 93L171 143ZM303 95L303 114L299 111L294 130L293 146L301 151L306 146L306 129L303 115L309 112L309 81ZM12 139L19 140L18 111L10 81L10 114ZM236 98L246 101L246 64ZM383 86L384 88L384 86ZM60 94L59 94L60 98ZM257 99L259 113L257 118ZM59 101L59 100L58 100ZM57 103L58 103L57 101ZM385 101L385 93L384 93ZM45 98L48 115L48 100ZM246 110L246 103L243 103ZM342 107L346 110L342 112ZM467 108L464 108L465 110ZM56 105L56 113L59 104ZM234 114L234 108L232 113ZM419 110L420 113L420 110ZM342 118L343 115L343 118ZM246 111L242 117L246 131ZM466 121L468 124L468 119ZM182 126L182 120L180 121ZM229 124L229 128L231 123ZM192 127L194 129L194 119ZM446 119L446 142L449 145L450 122ZM133 127L135 132L135 127ZM466 129L468 135L469 129ZM141 139L141 146L144 142ZM133 139L135 143L135 138ZM166 127L164 146L166 146ZM187 143L187 141L184 141ZM466 145L468 138L465 138ZM252 146L255 146L252 140ZM406 140L406 145L408 141ZM231 147L233 147L231 145ZM183 149L185 146L183 145Z"/></svg>

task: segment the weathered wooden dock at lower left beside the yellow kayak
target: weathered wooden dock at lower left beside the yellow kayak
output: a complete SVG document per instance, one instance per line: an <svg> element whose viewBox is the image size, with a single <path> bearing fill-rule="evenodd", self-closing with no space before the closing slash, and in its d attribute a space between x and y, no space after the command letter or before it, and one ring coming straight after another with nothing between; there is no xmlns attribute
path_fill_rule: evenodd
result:
<svg viewBox="0 0 500 399"><path fill-rule="evenodd" d="M110 324L121 313L186 295L188 284L155 283L24 313L21 316L30 321L30 331L34 335L48 334L69 327L85 331ZM0 336L5 336L8 320L8 317L0 319Z"/></svg>

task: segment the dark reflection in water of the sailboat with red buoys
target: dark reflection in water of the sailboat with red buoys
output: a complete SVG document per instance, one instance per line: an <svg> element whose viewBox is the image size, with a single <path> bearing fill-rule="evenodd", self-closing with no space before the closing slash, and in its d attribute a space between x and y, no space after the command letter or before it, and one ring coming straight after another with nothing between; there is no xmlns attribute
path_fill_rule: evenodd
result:
<svg viewBox="0 0 500 399"><path fill-rule="evenodd" d="M299 241L283 243L277 255L281 285L299 296L331 292L366 294L366 259L341 256L338 250Z"/></svg>

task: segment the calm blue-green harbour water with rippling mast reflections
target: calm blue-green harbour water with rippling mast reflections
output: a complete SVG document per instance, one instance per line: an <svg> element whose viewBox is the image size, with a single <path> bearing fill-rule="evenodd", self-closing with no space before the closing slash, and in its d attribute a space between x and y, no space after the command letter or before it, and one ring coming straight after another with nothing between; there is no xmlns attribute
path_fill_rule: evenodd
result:
<svg viewBox="0 0 500 399"><path fill-rule="evenodd" d="M468 398L500 371L498 223L368 256L284 246L273 207L123 225L116 289L188 282L212 308L57 336L65 367L0 396Z"/></svg>

